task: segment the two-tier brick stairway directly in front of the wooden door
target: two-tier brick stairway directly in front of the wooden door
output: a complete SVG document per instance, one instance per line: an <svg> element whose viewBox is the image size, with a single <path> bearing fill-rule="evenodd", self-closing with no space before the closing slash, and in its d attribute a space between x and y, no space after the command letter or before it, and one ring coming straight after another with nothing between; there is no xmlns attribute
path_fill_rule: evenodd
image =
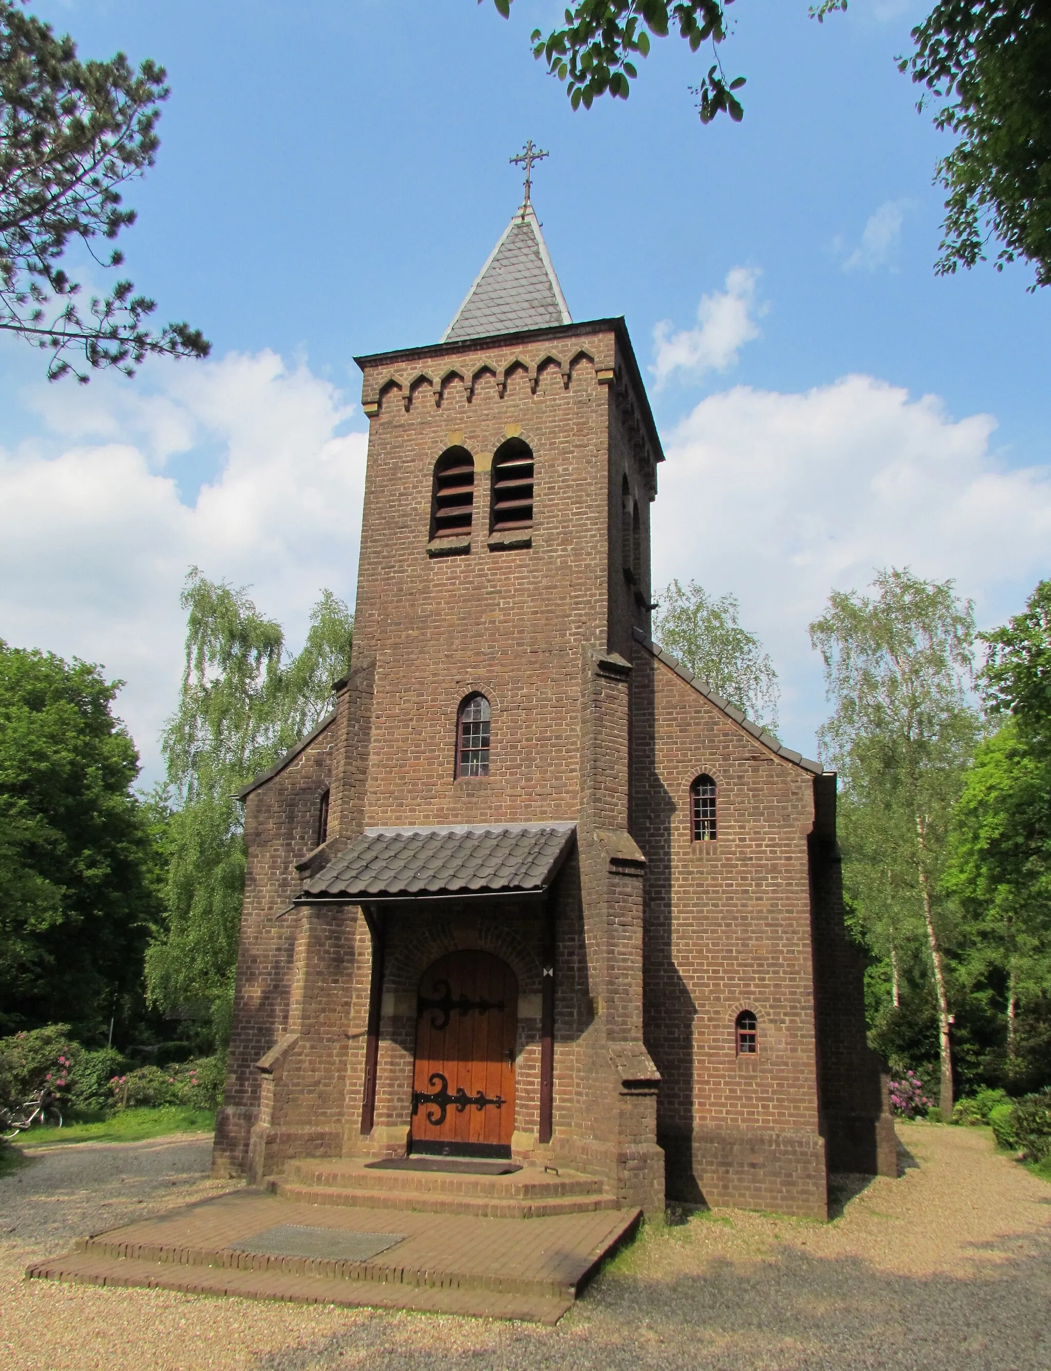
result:
<svg viewBox="0 0 1051 1371"><path fill-rule="evenodd" d="M381 1171L349 1158L291 1161L266 1187L298 1204L467 1213L483 1219L550 1219L617 1209L602 1182L574 1171L523 1167L509 1175Z"/></svg>

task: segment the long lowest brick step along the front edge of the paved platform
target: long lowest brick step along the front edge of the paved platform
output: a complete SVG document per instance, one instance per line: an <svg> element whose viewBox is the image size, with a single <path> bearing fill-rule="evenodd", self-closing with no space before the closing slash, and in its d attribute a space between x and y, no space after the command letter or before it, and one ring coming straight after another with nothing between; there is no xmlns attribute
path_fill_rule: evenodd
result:
<svg viewBox="0 0 1051 1371"><path fill-rule="evenodd" d="M196 1263L147 1261L137 1257L115 1257L97 1250L74 1252L64 1257L37 1261L29 1267L26 1276L121 1289L178 1290L188 1294L226 1294L246 1300L287 1300L294 1304L335 1304L350 1308L414 1309L421 1313L527 1319L549 1324L557 1323L574 1302L572 1291L543 1294L538 1290L491 1290L471 1281L456 1282L456 1278L443 1278L447 1283L442 1285L414 1285L397 1278L347 1279L273 1268L259 1271Z"/></svg>

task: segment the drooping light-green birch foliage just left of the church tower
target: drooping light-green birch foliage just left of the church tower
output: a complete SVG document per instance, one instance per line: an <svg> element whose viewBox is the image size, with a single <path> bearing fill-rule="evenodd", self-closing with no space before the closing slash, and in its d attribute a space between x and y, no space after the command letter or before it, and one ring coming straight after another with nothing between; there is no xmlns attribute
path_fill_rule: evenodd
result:
<svg viewBox="0 0 1051 1371"><path fill-rule="evenodd" d="M193 568L181 598L187 665L163 735L172 810L167 917L151 943L147 986L162 1009L196 1001L229 1012L244 894L244 842L233 792L309 732L350 664L353 616L331 591L310 614L299 654L246 590Z"/></svg>

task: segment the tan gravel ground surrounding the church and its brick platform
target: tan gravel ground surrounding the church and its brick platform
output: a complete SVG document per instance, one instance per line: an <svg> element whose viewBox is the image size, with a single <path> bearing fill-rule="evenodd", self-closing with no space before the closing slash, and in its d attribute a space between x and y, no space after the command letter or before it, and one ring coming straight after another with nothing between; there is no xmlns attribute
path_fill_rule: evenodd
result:
<svg viewBox="0 0 1051 1371"><path fill-rule="evenodd" d="M64 1148L0 1180L18 1371L819 1371L1051 1366L1051 1186L985 1130L899 1126L904 1174L830 1224L718 1211L649 1233L556 1328L22 1282L86 1231L228 1189L206 1141Z"/></svg>

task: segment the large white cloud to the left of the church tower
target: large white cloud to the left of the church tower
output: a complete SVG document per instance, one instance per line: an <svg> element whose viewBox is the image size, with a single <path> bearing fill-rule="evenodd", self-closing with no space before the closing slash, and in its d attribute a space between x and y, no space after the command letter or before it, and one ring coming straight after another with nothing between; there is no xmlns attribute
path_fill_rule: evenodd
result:
<svg viewBox="0 0 1051 1371"><path fill-rule="evenodd" d="M336 436L351 410L333 385L269 351L151 377L152 392L34 388L51 435L0 450L0 636L125 679L145 779L176 703L187 569L250 584L302 639L321 587L354 599L366 443ZM165 468L195 452L214 474L184 502Z"/></svg>

